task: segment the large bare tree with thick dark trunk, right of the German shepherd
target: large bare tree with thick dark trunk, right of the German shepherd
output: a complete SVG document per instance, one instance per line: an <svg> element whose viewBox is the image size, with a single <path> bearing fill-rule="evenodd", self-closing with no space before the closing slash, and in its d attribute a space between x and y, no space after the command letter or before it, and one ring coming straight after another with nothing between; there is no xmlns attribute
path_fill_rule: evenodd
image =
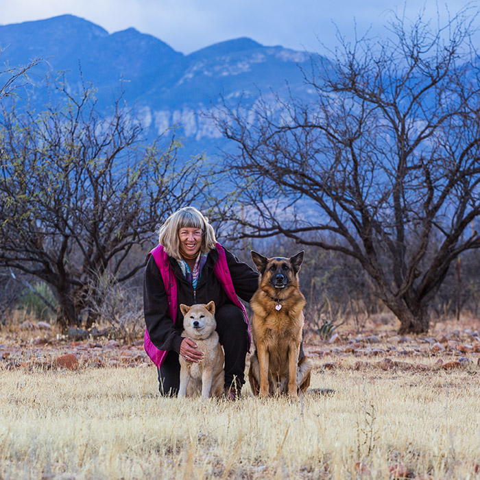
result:
<svg viewBox="0 0 480 480"><path fill-rule="evenodd" d="M480 82L459 12L432 29L394 16L390 38L341 40L305 72L315 101L224 108L217 124L242 208L239 235L283 234L356 259L400 333L429 328L451 262L480 246ZM239 215L242 212L242 215Z"/></svg>

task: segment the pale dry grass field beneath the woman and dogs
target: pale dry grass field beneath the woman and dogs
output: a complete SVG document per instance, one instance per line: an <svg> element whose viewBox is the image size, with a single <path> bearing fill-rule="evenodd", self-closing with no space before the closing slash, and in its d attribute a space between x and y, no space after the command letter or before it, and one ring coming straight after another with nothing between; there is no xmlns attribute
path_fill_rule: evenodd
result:
<svg viewBox="0 0 480 480"><path fill-rule="evenodd" d="M307 345L304 398L259 400L245 385L235 403L160 398L143 361L12 366L10 333L0 338L0 479L480 478L477 332L441 328L427 339L391 328L375 345L340 331L335 344ZM469 361L442 367L461 355Z"/></svg>

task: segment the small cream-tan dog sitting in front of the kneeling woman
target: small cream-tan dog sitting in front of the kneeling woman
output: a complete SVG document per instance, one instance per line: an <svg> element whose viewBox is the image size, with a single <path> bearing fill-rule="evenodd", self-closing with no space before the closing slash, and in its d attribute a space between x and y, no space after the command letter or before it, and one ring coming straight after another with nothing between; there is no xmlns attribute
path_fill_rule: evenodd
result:
<svg viewBox="0 0 480 480"><path fill-rule="evenodd" d="M224 392L224 350L219 344L215 331L215 302L195 304L191 307L180 304L183 313L182 337L191 338L197 344L197 350L204 354L198 363L187 363L180 356L180 389L178 396L202 398L221 396Z"/></svg>

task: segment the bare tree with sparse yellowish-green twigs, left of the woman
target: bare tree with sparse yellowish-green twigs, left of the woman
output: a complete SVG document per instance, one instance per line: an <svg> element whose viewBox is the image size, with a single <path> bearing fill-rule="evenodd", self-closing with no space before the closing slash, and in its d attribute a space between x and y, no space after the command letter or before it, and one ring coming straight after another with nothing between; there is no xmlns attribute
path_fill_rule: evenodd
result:
<svg viewBox="0 0 480 480"><path fill-rule="evenodd" d="M14 107L0 119L0 265L51 285L58 322L68 326L78 324L99 276L132 278L156 226L199 201L192 179L200 159L178 160L174 138L161 149L143 145L121 98L100 115L91 88L54 93L56 106Z"/></svg>

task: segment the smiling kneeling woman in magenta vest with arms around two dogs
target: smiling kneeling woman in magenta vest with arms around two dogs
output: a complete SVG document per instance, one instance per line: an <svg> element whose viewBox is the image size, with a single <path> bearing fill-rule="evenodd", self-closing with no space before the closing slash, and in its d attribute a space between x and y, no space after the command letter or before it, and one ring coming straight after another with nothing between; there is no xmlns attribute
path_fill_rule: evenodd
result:
<svg viewBox="0 0 480 480"><path fill-rule="evenodd" d="M167 218L158 243L145 268L143 306L145 350L157 365L160 394L178 393L178 355L190 363L202 359L195 342L181 336L183 317L178 305L213 300L225 352L225 394L237 398L250 346L245 309L237 295L250 301L258 286L258 272L217 243L213 227L191 206Z"/></svg>

